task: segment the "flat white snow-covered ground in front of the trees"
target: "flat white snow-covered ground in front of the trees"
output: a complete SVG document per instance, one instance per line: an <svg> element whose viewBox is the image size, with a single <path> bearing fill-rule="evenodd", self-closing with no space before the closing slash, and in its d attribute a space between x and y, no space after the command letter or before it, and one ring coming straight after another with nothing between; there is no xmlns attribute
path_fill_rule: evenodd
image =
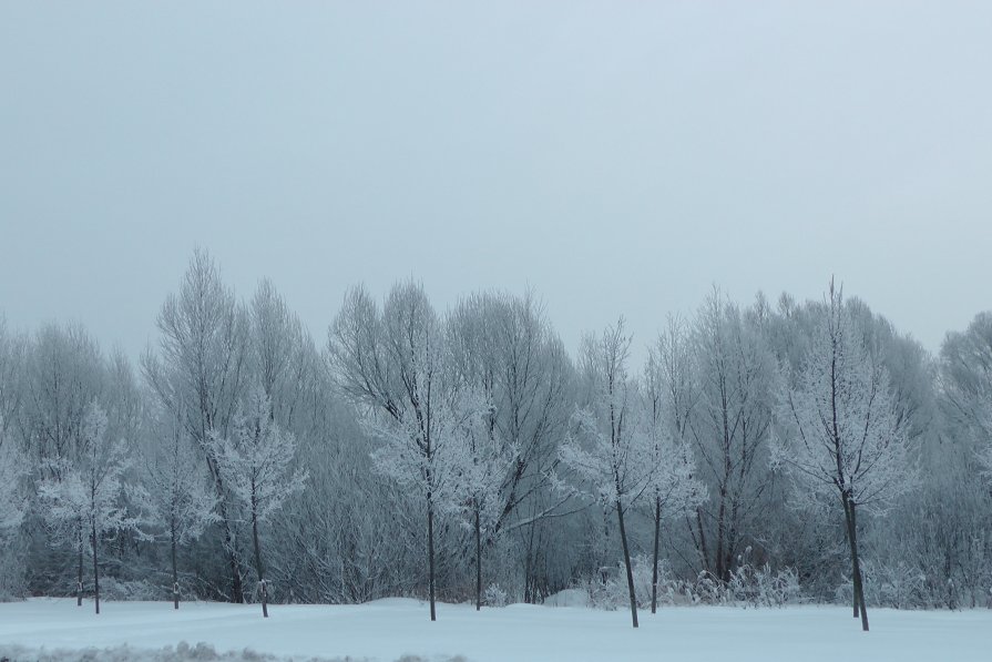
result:
<svg viewBox="0 0 992 662"><path fill-rule="evenodd" d="M76 608L72 599L0 604L0 658L39 659L55 650L122 644L132 651L161 651L185 641L206 642L218 652L250 649L296 660L992 659L992 611L877 609L869 612L872 631L867 634L849 610L839 607L665 608L656 615L642 612L636 631L624 611L524 604L481 613L468 605L439 604L438 621L431 623L425 604L405 599L362 605L276 604L268 620L258 605L206 602L183 604L177 612L164 602L105 602L101 611L96 617L92 602ZM111 656L104 651L90 659ZM249 653L235 659L257 658Z"/></svg>

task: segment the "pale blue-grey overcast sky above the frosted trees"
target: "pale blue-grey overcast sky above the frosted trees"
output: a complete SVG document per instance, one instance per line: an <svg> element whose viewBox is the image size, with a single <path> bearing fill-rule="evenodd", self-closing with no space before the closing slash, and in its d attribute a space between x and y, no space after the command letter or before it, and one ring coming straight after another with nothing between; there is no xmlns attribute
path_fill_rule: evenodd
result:
<svg viewBox="0 0 992 662"><path fill-rule="evenodd" d="M0 310L136 355L194 246L323 342L346 288L533 286L570 348L831 274L992 307L992 3L0 3Z"/></svg>

